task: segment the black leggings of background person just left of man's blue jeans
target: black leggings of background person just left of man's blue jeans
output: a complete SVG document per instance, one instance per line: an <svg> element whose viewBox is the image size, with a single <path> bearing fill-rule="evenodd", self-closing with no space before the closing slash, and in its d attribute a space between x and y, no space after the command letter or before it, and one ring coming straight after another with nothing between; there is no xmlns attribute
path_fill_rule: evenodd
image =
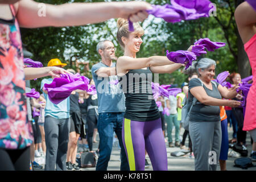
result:
<svg viewBox="0 0 256 182"><path fill-rule="evenodd" d="M87 115L86 116L86 138L89 146L89 150L93 150L93 131L97 126L97 118L96 115Z"/></svg>

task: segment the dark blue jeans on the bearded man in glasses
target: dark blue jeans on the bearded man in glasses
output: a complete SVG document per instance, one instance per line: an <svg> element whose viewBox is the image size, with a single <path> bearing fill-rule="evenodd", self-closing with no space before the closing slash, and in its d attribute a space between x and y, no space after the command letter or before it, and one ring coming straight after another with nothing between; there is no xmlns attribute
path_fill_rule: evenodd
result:
<svg viewBox="0 0 256 182"><path fill-rule="evenodd" d="M121 171L129 171L125 148L122 142L122 125L124 113L100 113L98 115L98 134L100 137L100 156L97 161L96 171L106 171L110 160L113 145L113 134L117 134L121 147Z"/></svg>

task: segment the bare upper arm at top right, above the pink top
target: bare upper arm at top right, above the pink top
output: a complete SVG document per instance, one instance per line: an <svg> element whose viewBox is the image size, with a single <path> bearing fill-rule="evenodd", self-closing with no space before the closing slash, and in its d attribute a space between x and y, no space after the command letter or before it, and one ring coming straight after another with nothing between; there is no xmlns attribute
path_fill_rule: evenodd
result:
<svg viewBox="0 0 256 182"><path fill-rule="evenodd" d="M256 12L249 3L243 2L237 6L234 17L242 42L245 44L256 34Z"/></svg>

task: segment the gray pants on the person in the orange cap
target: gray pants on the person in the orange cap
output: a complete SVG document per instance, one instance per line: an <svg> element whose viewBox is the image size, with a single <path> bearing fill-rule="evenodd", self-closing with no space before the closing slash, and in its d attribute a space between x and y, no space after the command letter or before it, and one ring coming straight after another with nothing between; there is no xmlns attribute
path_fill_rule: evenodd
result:
<svg viewBox="0 0 256 182"><path fill-rule="evenodd" d="M44 131L46 134L46 171L67 170L66 158L68 150L70 120L56 119L46 116Z"/></svg>

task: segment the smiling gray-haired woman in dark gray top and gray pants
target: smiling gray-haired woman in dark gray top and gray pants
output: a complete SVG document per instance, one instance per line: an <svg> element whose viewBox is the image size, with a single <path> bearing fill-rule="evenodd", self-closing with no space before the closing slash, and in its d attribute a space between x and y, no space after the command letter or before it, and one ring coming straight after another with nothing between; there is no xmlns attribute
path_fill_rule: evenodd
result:
<svg viewBox="0 0 256 182"><path fill-rule="evenodd" d="M228 90L212 81L216 68L214 60L200 59L195 67L199 78L193 78L188 85L189 99L197 99L189 115L195 170L215 171L221 148L220 106L238 107L241 104L239 101L222 100L236 97L237 87Z"/></svg>

